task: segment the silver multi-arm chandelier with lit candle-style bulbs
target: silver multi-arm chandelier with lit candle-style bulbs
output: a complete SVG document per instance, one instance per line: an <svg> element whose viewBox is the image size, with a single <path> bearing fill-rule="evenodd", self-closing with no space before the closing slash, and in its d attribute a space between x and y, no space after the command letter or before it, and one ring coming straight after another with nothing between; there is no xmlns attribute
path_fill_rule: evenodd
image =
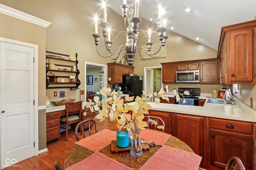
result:
<svg viewBox="0 0 256 170"><path fill-rule="evenodd" d="M132 8L133 0L130 0L129 5L126 4L126 0L123 0L123 5L121 5L120 8L122 10L122 14L123 14L123 18L124 18L124 26L125 26L126 30L118 33L116 38L111 41L110 40L110 24L107 23L106 4L105 4L104 0L102 0L103 22L100 23L100 27L102 28L102 33L103 33L103 37L105 39L105 46L108 51L108 56L100 55L100 53L98 52L99 39L100 39L101 35L98 34L98 16L96 13L94 15L95 33L92 34L92 36L94 37L98 55L100 55L101 57L110 57L110 59L116 60L119 57L120 52L125 50L125 53L126 53L126 56L128 59L128 65L132 66L133 62L134 62L133 57L134 57L136 51L138 51L138 53L140 54L140 57L143 60L147 60L149 57L160 57L163 54L163 52L164 52L163 47L166 45L166 39L168 38L168 36L165 35L166 19L164 17L164 10L163 10L161 4L159 4L158 5L158 18L156 19L156 24L157 24L156 31L157 31L158 35L156 35L156 37L151 38L151 30L150 29L148 31L148 36L146 35L146 33L144 31L138 29L138 26L142 21L141 18L138 17L139 3L140 3L139 0L135 1L135 11L134 11ZM129 16L128 20L126 21L128 13L130 16ZM128 23L128 26L127 26L127 23ZM138 39L139 32L144 33L145 37L148 39L148 42L146 43L146 46L144 46L144 47L142 45L137 45L137 39ZM126 44L121 45L120 47L116 48L114 51L110 51L111 44L114 41L116 41L116 39L118 38L118 36L121 33L126 33L126 41L127 41ZM157 37L160 41L160 43L159 43L160 45L157 48L158 50L154 51L153 53L149 53L151 51L151 47L153 45L153 43L151 42L151 39L156 39ZM162 50L161 50L161 48L162 48ZM141 51L146 54L146 56L147 56L146 58L142 57ZM113 55L115 55L115 56L117 55L117 57L113 58L112 57Z"/></svg>

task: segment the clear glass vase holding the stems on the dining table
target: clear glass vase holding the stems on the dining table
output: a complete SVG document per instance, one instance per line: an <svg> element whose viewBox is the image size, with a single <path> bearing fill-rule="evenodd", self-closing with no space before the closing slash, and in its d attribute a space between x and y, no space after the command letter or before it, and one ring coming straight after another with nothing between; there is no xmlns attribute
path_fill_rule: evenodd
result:
<svg viewBox="0 0 256 170"><path fill-rule="evenodd" d="M134 158L139 158L142 156L142 144L140 141L140 131L131 131L132 139L131 139L131 156Z"/></svg>

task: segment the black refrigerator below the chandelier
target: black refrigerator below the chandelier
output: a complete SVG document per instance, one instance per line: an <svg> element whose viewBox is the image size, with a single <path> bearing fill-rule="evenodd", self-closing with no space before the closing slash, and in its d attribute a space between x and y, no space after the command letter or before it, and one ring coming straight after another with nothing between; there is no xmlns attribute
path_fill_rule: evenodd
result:
<svg viewBox="0 0 256 170"><path fill-rule="evenodd" d="M124 94L141 97L143 90L143 76L123 76L123 83L119 85Z"/></svg>

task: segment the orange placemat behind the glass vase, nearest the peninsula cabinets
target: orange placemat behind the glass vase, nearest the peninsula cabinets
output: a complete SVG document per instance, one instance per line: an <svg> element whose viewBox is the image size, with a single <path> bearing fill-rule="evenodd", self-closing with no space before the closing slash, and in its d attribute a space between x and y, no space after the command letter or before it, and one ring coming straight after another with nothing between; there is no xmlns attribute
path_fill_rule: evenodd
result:
<svg viewBox="0 0 256 170"><path fill-rule="evenodd" d="M131 136L132 133L129 132L129 135ZM151 131L148 129L143 129L140 132L140 139L144 138L145 141L154 141L155 145L163 146L166 141L171 137L168 133L161 133L157 131Z"/></svg>

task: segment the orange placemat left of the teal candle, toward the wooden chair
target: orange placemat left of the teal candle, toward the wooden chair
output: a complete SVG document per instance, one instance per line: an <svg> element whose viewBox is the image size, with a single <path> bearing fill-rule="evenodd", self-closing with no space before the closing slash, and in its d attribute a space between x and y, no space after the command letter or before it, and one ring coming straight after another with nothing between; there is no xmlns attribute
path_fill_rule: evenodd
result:
<svg viewBox="0 0 256 170"><path fill-rule="evenodd" d="M111 141L116 140L116 133L116 131L104 129L77 141L76 144L96 152L108 146Z"/></svg>

